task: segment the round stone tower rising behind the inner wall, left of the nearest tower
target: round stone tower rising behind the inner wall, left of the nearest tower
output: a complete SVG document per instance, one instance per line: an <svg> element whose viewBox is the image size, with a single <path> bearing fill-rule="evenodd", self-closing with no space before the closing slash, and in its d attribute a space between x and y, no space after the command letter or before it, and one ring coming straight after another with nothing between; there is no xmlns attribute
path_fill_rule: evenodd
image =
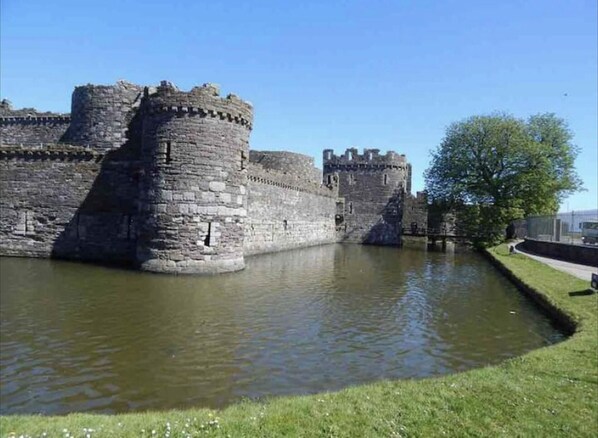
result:
<svg viewBox="0 0 598 438"><path fill-rule="evenodd" d="M98 151L120 147L141 102L143 87L119 81L116 85L75 87L71 124L62 142Z"/></svg>

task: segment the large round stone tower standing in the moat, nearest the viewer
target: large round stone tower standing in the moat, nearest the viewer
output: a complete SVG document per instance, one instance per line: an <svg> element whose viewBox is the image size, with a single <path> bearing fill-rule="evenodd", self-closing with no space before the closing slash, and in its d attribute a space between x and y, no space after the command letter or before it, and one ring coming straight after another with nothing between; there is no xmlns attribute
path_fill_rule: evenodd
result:
<svg viewBox="0 0 598 438"><path fill-rule="evenodd" d="M141 269L243 269L251 105L214 85L181 92L162 82L141 111Z"/></svg>

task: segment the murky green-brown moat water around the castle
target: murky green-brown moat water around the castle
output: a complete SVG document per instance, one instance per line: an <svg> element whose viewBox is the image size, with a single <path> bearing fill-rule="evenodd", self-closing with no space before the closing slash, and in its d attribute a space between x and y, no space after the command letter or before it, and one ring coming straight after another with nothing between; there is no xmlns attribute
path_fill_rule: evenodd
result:
<svg viewBox="0 0 598 438"><path fill-rule="evenodd" d="M162 276L0 259L2 414L221 407L447 374L564 336L473 253L329 245Z"/></svg>

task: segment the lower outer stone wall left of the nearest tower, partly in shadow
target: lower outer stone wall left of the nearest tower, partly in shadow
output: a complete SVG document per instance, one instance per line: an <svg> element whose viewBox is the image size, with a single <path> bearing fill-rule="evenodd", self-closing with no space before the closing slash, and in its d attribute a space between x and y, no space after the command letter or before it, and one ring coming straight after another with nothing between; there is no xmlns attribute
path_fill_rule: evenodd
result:
<svg viewBox="0 0 598 438"><path fill-rule="evenodd" d="M132 262L132 166L80 147L1 147L0 255Z"/></svg>

